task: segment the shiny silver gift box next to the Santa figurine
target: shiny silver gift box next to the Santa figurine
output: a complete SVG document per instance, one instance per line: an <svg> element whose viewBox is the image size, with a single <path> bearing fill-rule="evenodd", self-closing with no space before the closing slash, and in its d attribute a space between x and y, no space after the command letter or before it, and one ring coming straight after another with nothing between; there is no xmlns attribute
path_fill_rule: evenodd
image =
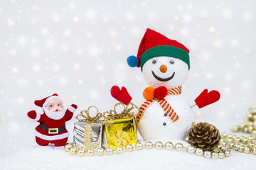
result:
<svg viewBox="0 0 256 170"><path fill-rule="evenodd" d="M73 144L84 147L85 142L85 125L86 122L78 122L74 125L74 137ZM103 135L105 134L105 128L103 123L92 123L92 137L91 137L91 149L103 148L105 149L105 142Z"/></svg>

